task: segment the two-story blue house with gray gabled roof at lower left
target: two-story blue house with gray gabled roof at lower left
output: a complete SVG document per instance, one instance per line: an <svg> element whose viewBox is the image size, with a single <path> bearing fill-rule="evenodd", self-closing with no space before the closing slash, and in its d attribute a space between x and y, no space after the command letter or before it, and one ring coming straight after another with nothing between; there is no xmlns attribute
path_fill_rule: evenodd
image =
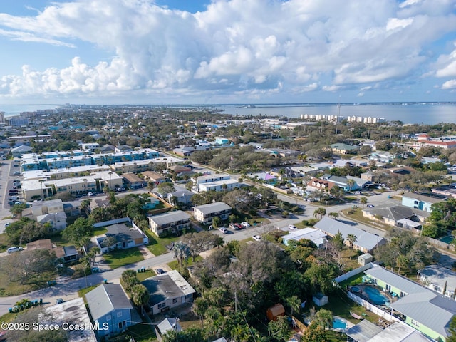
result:
<svg viewBox="0 0 456 342"><path fill-rule="evenodd" d="M86 301L100 338L121 333L132 325L134 309L119 284L101 284L86 294Z"/></svg>

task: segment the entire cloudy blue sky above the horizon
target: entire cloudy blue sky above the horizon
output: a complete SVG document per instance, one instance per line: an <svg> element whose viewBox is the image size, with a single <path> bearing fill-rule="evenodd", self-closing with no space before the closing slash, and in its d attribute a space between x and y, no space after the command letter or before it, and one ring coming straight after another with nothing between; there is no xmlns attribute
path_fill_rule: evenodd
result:
<svg viewBox="0 0 456 342"><path fill-rule="evenodd" d="M1 1L0 62L0 104L456 101L456 1Z"/></svg>

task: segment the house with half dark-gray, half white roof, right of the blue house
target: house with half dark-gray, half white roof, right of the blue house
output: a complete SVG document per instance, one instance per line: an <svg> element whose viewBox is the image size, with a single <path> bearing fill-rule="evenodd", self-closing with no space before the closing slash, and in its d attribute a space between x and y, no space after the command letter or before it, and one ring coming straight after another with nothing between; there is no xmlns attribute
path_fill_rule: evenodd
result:
<svg viewBox="0 0 456 342"><path fill-rule="evenodd" d="M152 314L193 303L195 289L176 270L145 279L142 283L150 293Z"/></svg>

